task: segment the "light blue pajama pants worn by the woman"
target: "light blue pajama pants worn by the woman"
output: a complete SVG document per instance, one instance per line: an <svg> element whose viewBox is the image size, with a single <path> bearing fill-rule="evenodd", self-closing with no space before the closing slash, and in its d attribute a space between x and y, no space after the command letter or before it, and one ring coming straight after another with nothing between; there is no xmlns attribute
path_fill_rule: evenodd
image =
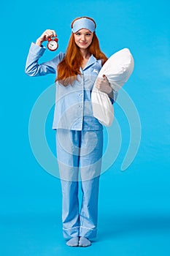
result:
<svg viewBox="0 0 170 256"><path fill-rule="evenodd" d="M103 131L57 129L56 145L63 195L63 237L95 238Z"/></svg>

